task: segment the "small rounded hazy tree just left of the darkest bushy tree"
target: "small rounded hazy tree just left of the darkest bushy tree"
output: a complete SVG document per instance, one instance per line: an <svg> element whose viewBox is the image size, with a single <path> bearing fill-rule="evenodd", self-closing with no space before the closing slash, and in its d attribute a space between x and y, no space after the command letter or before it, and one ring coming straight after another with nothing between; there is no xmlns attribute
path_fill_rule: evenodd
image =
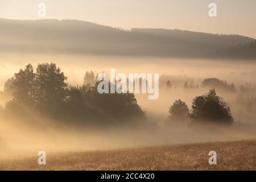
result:
<svg viewBox="0 0 256 182"><path fill-rule="evenodd" d="M187 120L189 109L185 102L176 100L169 109L169 119Z"/></svg>

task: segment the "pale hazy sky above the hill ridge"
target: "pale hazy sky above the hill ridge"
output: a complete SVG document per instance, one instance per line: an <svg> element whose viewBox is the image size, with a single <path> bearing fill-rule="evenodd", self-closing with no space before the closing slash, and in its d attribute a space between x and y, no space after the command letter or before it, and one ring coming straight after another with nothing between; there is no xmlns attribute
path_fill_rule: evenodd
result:
<svg viewBox="0 0 256 182"><path fill-rule="evenodd" d="M256 0L0 0L0 17L79 19L123 28L178 28L201 32L240 34L256 39ZM210 18L208 5L217 4Z"/></svg>

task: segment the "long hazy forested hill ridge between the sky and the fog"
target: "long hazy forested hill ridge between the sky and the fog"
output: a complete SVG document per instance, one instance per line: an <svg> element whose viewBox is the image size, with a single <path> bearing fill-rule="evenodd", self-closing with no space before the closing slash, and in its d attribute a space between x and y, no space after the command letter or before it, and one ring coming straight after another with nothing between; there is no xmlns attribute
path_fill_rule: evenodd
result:
<svg viewBox="0 0 256 182"><path fill-rule="evenodd" d="M124 31L80 20L0 19L0 27L1 52L193 58L254 41L240 35L181 30Z"/></svg>

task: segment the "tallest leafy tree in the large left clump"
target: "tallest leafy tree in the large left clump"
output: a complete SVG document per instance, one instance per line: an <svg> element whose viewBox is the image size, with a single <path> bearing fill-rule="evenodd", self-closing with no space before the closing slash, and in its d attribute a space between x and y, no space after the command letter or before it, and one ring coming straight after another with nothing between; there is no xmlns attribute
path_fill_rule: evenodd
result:
<svg viewBox="0 0 256 182"><path fill-rule="evenodd" d="M36 104L64 101L66 80L67 77L56 64L38 64L35 75Z"/></svg>

